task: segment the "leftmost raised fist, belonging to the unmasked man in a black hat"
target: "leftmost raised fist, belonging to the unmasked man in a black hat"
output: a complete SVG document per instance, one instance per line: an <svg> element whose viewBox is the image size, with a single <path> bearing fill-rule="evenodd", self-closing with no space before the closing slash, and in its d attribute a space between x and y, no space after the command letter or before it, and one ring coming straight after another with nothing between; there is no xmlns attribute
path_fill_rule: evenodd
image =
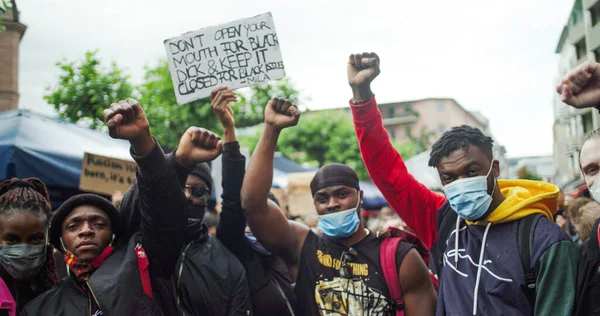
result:
<svg viewBox="0 0 600 316"><path fill-rule="evenodd" d="M134 99L121 100L104 110L104 123L112 138L126 139L138 155L148 154L154 147L146 113Z"/></svg>

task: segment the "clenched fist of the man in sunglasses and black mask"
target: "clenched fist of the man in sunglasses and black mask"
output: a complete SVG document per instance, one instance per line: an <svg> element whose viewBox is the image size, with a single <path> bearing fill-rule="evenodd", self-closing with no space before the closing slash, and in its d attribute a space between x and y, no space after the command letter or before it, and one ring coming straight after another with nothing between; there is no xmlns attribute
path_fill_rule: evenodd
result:
<svg viewBox="0 0 600 316"><path fill-rule="evenodd" d="M215 160L223 152L221 137L200 127L190 127L181 136L175 160L182 166L194 168L201 162Z"/></svg>

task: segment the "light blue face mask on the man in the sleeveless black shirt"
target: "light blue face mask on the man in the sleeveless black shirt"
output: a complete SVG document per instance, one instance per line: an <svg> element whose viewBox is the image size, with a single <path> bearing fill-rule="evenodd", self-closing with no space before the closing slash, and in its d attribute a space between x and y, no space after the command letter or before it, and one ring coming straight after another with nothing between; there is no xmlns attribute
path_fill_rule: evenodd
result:
<svg viewBox="0 0 600 316"><path fill-rule="evenodd" d="M319 230L332 238L348 238L358 230L360 218L356 210L360 205L360 199L355 208L327 214L319 215Z"/></svg>

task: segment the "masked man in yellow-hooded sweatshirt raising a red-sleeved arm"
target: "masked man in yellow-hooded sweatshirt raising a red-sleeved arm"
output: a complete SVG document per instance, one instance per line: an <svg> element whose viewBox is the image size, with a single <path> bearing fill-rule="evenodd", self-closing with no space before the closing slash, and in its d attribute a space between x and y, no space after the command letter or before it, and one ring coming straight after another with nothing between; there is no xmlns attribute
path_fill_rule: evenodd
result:
<svg viewBox="0 0 600 316"><path fill-rule="evenodd" d="M493 140L466 125L431 148L445 196L419 183L382 124L371 91L379 63L375 53L347 61L354 127L371 179L432 251L437 315L569 315L579 253L553 221L558 187L497 180Z"/></svg>

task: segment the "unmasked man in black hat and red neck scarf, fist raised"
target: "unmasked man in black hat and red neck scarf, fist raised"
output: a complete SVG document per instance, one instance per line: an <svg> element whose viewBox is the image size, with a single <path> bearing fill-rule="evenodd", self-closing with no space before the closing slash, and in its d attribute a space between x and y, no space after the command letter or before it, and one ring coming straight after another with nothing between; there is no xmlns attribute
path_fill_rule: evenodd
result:
<svg viewBox="0 0 600 316"><path fill-rule="evenodd" d="M70 275L31 301L26 315L175 311L169 279L183 245L185 197L137 101L113 103L104 121L111 137L129 140L138 165L140 233L127 236L118 210L101 196L69 198L54 212L49 238L64 253Z"/></svg>

